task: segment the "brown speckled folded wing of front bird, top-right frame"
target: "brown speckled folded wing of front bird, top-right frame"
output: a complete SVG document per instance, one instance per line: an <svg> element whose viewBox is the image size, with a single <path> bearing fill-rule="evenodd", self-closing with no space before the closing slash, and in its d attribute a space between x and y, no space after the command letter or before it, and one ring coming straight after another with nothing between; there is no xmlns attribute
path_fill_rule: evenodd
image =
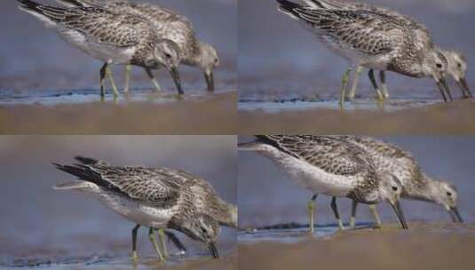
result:
<svg viewBox="0 0 475 270"><path fill-rule="evenodd" d="M357 52L378 55L392 52L403 42L404 28L391 16L362 10L324 10L279 0L280 10L302 20L322 38L345 44Z"/></svg>

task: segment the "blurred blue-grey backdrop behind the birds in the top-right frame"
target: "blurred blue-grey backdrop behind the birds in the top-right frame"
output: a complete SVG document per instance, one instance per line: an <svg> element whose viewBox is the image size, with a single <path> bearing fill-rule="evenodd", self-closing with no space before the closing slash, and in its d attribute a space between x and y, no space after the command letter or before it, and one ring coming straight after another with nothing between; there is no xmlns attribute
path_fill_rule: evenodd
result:
<svg viewBox="0 0 475 270"><path fill-rule="evenodd" d="M299 2L298 0L292 0ZM463 52L469 61L468 82L475 69L472 32L475 1L472 0L354 0L381 5L414 17L430 30L442 48ZM240 0L239 2L239 82L240 99L281 99L310 97L336 99L341 75L347 63L330 52L296 20L277 11L275 0ZM299 2L302 3L302 2ZM387 74L392 98L439 99L431 79ZM454 82L455 97L460 91ZM368 71L361 73L357 92L372 98Z"/></svg>

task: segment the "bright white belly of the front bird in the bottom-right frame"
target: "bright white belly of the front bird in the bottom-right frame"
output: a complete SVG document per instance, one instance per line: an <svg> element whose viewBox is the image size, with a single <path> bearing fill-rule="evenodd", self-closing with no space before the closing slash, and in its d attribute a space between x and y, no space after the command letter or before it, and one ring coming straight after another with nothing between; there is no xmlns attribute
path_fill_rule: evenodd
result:
<svg viewBox="0 0 475 270"><path fill-rule="evenodd" d="M299 186L305 187L313 193L344 197L356 186L356 181L352 177L323 171L293 156L281 156L276 162L289 173L292 179L297 181Z"/></svg>

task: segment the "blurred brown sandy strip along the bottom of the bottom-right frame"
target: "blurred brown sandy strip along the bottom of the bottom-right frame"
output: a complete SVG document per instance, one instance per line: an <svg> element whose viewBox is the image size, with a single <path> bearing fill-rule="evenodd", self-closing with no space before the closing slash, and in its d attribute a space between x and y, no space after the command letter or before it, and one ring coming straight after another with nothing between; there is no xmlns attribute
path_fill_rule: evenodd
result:
<svg viewBox="0 0 475 270"><path fill-rule="evenodd" d="M329 239L239 245L241 269L470 269L475 226L362 229Z"/></svg>

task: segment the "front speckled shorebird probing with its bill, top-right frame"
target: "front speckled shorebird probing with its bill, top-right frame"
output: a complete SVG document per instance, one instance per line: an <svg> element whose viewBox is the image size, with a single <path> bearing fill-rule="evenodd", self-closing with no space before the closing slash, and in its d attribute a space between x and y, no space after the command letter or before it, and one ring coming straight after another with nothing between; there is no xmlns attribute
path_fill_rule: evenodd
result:
<svg viewBox="0 0 475 270"><path fill-rule="evenodd" d="M384 96L376 83L375 69L412 77L431 77L447 101L450 94L444 77L447 60L436 50L424 28L416 28L411 21L404 23L381 12L323 9L287 0L277 2L279 11L310 28L332 52L349 62L342 77L340 107L344 105L353 66L369 68L369 80L380 100L384 100Z"/></svg>

